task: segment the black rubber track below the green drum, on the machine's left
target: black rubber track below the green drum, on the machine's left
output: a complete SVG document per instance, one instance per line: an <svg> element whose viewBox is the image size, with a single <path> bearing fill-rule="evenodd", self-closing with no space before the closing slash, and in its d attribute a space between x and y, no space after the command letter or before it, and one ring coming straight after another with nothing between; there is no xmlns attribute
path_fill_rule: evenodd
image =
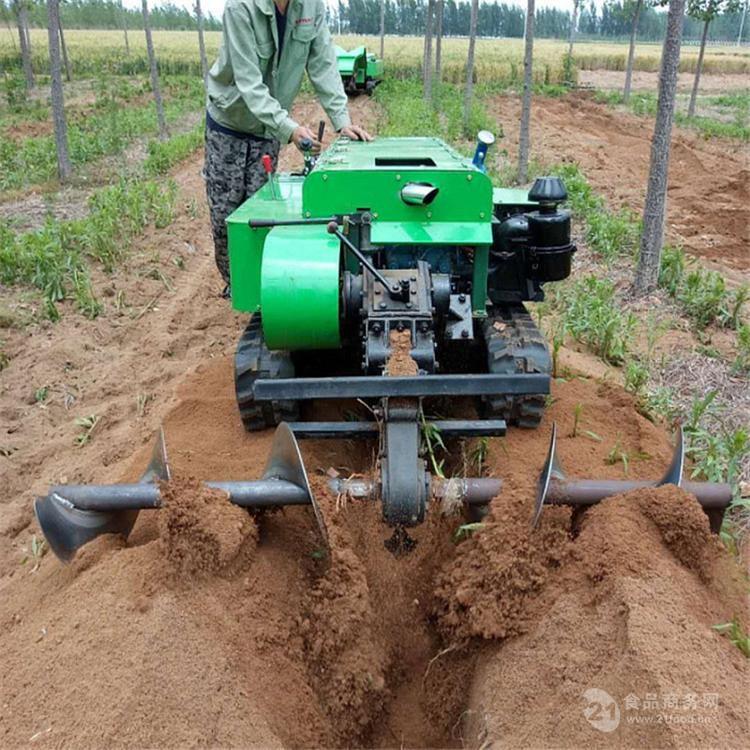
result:
<svg viewBox="0 0 750 750"><path fill-rule="evenodd" d="M258 378L293 378L294 364L289 352L270 351L263 341L260 314L250 318L234 355L234 388L242 424L248 432L275 427L280 422L296 422L297 401L263 401L253 398Z"/></svg>

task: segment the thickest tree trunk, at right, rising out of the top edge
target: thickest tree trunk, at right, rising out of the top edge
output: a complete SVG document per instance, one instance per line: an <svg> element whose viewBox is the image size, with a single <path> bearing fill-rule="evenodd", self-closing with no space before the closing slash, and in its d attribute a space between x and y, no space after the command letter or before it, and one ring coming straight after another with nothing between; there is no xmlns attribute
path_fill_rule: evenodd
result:
<svg viewBox="0 0 750 750"><path fill-rule="evenodd" d="M667 15L667 33L659 71L659 100L656 105L656 123L651 141L651 165L648 173L646 202L643 206L643 234L641 252L635 274L635 292L642 295L656 288L664 242L664 219L667 209L667 177L669 150L677 94L677 74L680 67L682 42L682 17L685 0L670 0Z"/></svg>

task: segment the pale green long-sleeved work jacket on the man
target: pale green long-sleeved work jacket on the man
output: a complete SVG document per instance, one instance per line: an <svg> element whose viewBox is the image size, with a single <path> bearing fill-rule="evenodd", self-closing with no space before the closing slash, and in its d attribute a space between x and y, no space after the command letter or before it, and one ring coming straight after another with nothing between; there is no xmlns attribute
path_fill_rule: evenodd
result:
<svg viewBox="0 0 750 750"><path fill-rule="evenodd" d="M219 57L206 84L208 113L224 127L288 143L305 69L334 130L350 125L324 0L289 0L279 59L273 0L228 0Z"/></svg>

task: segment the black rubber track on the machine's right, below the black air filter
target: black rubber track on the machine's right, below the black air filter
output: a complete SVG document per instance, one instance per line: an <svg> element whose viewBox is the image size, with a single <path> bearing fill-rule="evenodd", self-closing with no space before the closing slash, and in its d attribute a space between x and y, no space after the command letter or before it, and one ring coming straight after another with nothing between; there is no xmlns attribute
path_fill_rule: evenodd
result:
<svg viewBox="0 0 750 750"><path fill-rule="evenodd" d="M552 372L544 335L523 305L508 305L483 323L487 367L494 375ZM546 396L498 394L483 399L485 415L508 424L535 428L544 415Z"/></svg>

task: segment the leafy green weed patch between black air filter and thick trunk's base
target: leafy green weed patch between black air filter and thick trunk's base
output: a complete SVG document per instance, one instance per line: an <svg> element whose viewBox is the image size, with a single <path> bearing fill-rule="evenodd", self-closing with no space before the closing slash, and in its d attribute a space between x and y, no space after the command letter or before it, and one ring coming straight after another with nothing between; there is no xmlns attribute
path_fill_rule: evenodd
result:
<svg viewBox="0 0 750 750"><path fill-rule="evenodd" d="M566 328L605 362L619 365L629 351L635 329L632 313L624 313L608 279L587 276L562 296Z"/></svg>

